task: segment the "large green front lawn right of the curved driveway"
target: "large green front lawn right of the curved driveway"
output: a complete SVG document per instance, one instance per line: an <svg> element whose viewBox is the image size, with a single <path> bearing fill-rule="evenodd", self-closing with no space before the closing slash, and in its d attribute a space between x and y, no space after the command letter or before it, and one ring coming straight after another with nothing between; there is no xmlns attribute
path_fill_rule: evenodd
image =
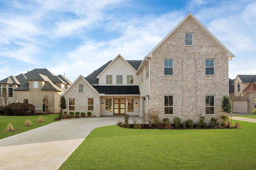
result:
<svg viewBox="0 0 256 170"><path fill-rule="evenodd" d="M256 167L256 123L241 129L94 129L60 170L232 169Z"/></svg>

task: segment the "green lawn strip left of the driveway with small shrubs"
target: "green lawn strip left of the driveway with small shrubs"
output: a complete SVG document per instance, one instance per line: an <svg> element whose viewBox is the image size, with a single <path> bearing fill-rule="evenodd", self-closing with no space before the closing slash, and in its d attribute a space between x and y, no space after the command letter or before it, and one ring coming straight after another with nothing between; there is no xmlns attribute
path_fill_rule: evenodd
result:
<svg viewBox="0 0 256 170"><path fill-rule="evenodd" d="M40 117L40 116L43 117L45 122L37 123L38 117ZM0 131L6 130L8 123L12 123L12 126L14 127L14 129L18 129L18 131L13 131L13 132L0 132L0 139L53 123L54 117L58 117L58 114L36 115L36 116L4 116L4 115L0 115ZM24 126L25 121L28 119L32 121L32 125Z"/></svg>

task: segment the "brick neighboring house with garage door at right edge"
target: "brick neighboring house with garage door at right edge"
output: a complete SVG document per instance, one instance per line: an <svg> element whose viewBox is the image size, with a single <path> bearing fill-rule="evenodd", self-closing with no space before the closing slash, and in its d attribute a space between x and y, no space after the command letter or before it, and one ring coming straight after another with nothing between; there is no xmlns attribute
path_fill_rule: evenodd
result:
<svg viewBox="0 0 256 170"><path fill-rule="evenodd" d="M230 79L230 94L234 112L250 113L256 109L256 75L237 75Z"/></svg>

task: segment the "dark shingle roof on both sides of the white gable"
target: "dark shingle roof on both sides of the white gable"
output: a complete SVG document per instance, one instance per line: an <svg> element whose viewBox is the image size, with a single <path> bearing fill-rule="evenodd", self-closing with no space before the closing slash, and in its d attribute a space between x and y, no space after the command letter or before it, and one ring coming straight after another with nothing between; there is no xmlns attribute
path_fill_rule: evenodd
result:
<svg viewBox="0 0 256 170"><path fill-rule="evenodd" d="M85 77L85 79L90 83L90 84L99 84L99 80L97 76L112 62L112 60L108 61L108 63L104 64L97 70L95 70L92 74L88 75ZM142 62L142 60L128 60L127 61L135 70L137 70Z"/></svg>

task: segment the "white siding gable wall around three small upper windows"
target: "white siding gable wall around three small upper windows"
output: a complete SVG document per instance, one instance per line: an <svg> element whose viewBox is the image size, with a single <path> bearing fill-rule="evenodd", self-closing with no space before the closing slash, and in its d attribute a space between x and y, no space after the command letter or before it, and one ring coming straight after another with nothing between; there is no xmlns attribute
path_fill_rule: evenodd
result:
<svg viewBox="0 0 256 170"><path fill-rule="evenodd" d="M106 75L112 75L112 85L106 85ZM133 86L138 86L138 75L135 74L135 70L121 57L116 58L116 60L100 74L100 86L116 86L116 75L123 75L123 84L121 86L127 85L126 75L133 75Z"/></svg>

